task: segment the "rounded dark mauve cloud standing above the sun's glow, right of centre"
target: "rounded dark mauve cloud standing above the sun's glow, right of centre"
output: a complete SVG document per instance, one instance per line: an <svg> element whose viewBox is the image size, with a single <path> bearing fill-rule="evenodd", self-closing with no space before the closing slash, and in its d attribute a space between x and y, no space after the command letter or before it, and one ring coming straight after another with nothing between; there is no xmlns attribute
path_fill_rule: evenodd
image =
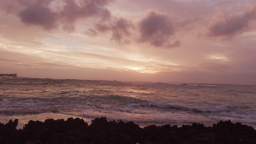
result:
<svg viewBox="0 0 256 144"><path fill-rule="evenodd" d="M173 48L180 45L175 40L175 27L172 19L165 14L150 11L140 24L138 42L150 43L152 46Z"/></svg>

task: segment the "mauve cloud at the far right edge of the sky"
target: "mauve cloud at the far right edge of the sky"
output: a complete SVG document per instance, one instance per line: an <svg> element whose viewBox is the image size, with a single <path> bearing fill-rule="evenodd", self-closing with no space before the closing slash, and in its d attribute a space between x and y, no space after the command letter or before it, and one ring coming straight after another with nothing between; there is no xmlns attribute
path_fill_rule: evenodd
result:
<svg viewBox="0 0 256 144"><path fill-rule="evenodd" d="M251 26L256 21L256 3L238 4L228 10L216 9L208 24L208 36L233 37L249 31L255 26Z"/></svg>

